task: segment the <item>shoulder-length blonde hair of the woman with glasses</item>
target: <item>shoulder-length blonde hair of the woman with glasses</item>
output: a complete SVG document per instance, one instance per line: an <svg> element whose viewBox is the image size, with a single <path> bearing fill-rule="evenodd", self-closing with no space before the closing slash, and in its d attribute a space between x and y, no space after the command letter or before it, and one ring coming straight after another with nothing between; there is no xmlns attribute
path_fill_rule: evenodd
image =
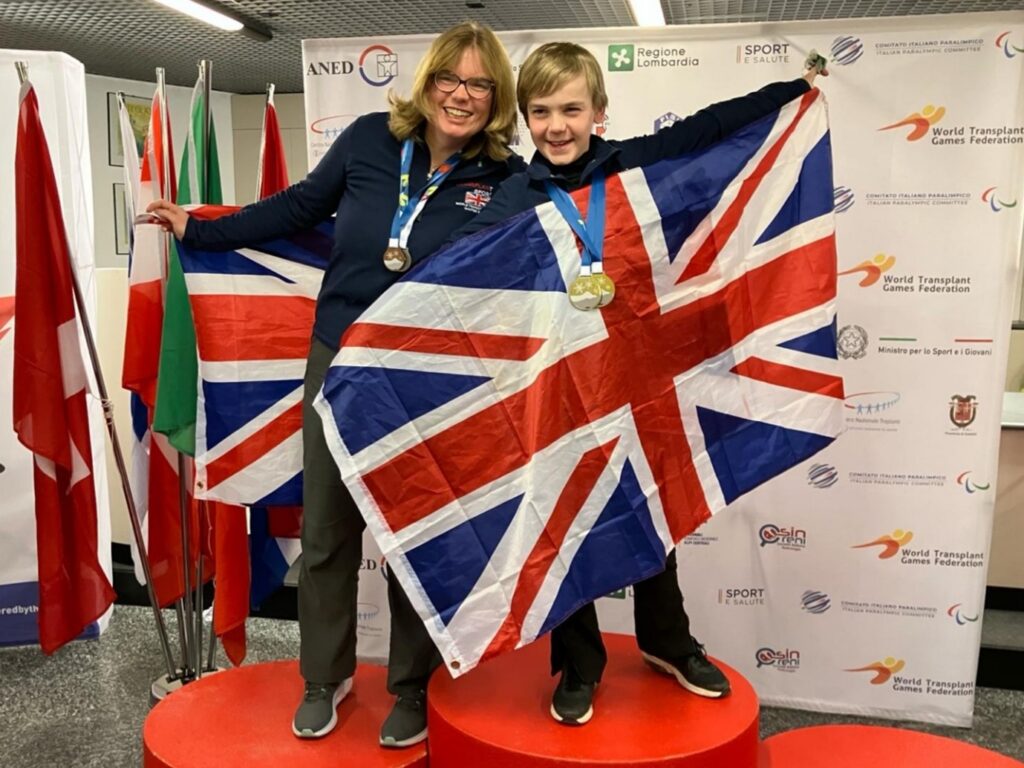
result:
<svg viewBox="0 0 1024 768"><path fill-rule="evenodd" d="M393 91L388 94L388 101L391 102L388 128L399 141L416 137L427 115L434 109L430 101L434 75L441 70L455 69L463 51L469 48L475 48L479 53L480 62L494 82L495 90L490 98L490 119L483 130L470 139L463 156L472 158L483 153L493 160L505 160L511 155L508 144L516 125L512 65L505 46L494 31L477 22L463 22L434 39L416 68L413 95L406 99Z"/></svg>

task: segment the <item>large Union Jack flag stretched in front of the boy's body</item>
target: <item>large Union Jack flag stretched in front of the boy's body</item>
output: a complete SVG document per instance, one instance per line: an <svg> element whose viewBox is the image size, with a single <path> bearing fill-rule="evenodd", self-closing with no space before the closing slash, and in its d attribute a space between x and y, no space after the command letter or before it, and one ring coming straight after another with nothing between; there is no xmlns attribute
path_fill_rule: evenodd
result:
<svg viewBox="0 0 1024 768"><path fill-rule="evenodd" d="M435 254L348 330L316 408L454 675L659 571L837 436L831 200L811 91L608 179L600 311L569 305L580 251L548 204Z"/></svg>

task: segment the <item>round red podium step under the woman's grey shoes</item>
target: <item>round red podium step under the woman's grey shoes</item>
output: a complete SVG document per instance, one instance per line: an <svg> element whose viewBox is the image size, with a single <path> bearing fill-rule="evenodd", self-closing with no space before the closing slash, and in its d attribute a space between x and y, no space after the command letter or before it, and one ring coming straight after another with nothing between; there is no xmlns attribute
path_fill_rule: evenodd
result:
<svg viewBox="0 0 1024 768"><path fill-rule="evenodd" d="M381 723L393 702L382 667L359 666L319 739L292 734L302 698L296 662L270 662L204 677L153 708L142 726L144 768L426 768L426 748L384 750Z"/></svg>

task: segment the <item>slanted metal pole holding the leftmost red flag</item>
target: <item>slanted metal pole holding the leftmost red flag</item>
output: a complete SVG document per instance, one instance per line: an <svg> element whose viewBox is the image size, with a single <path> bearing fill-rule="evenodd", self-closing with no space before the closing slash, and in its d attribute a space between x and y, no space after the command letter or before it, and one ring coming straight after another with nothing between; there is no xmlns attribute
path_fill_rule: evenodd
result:
<svg viewBox="0 0 1024 768"><path fill-rule="evenodd" d="M15 61L18 81L24 85L29 79L29 66L25 61ZM65 239L67 240L67 233ZM89 351L89 362L92 365L92 373L96 380L96 388L99 390L99 401L103 408L103 420L106 422L106 432L111 436L111 447L114 451L114 461L118 467L118 474L121 477L121 489L125 496L125 504L128 507L128 519L131 521L132 536L135 539L135 546L142 553L142 572L145 574L145 587L150 597L150 605L153 607L153 614L157 622L157 634L160 637L160 646L164 652L164 662L167 665L167 674L173 678L176 675L174 660L171 657L171 645L167 637L167 627L164 625L164 616L160 612L160 605L157 602L157 592L153 586L153 572L150 568L150 558L145 555L145 543L142 541L142 525L138 519L138 510L135 508L135 499L131 493L131 485L128 481L128 467L125 464L124 454L121 452L121 440L118 438L118 429L114 423L114 403L111 402L106 392L106 382L103 379L103 372L99 366L99 355L96 352L96 343L92 335L92 326L89 324L89 315L86 310L85 300L82 297L82 288L78 282L78 272L75 268L74 259L71 256L71 248L68 249L69 260L71 261L71 284L75 294L75 304L78 307L78 314L81 318L82 331L85 334L85 344Z"/></svg>

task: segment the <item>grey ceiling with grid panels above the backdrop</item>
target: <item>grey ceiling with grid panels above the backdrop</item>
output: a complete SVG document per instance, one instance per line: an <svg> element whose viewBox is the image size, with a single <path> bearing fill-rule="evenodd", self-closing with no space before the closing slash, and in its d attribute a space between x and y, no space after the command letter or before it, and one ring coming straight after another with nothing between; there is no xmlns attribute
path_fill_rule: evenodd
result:
<svg viewBox="0 0 1024 768"><path fill-rule="evenodd" d="M440 32L466 18L496 30L625 27L626 0L226 0L269 28L269 42L221 32L154 0L0 0L0 48L62 50L94 75L152 82L164 67L172 85L196 81L214 61L217 90L302 90L301 41ZM482 8L470 7L479 6ZM1024 9L1024 0L662 0L673 25L781 22Z"/></svg>

